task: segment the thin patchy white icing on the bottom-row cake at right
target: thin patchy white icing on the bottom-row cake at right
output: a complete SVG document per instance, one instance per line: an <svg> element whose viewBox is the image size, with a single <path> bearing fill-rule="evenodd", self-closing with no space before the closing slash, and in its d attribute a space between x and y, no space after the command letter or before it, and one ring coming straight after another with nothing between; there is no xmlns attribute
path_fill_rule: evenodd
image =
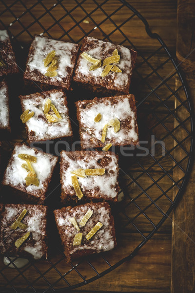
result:
<svg viewBox="0 0 195 293"><path fill-rule="evenodd" d="M79 222L84 214L87 212L88 207L85 205L78 206L78 209L72 211L71 213L71 216L74 216L76 218L78 227L80 228L80 232L82 232L82 242L79 246L72 245L73 238L77 232L74 226L68 220L68 218L70 217L69 212L67 211L64 214L61 213L61 215L57 216L58 224L59 222L61 222L61 225L59 225L60 229L62 229L63 233L66 234L68 237L68 239L66 239L67 241L65 245L71 248L71 254L83 249L92 249L97 252L109 251L115 246L111 230L112 227L110 226L109 210L103 206L98 209L96 207L90 209L93 210L93 215L89 218L84 227L81 227L79 225ZM64 220L63 224L61 219ZM91 240L88 241L86 240L85 236L95 226L94 219L96 223L101 222L103 226L100 228L100 230L98 230L98 232L96 232Z"/></svg>

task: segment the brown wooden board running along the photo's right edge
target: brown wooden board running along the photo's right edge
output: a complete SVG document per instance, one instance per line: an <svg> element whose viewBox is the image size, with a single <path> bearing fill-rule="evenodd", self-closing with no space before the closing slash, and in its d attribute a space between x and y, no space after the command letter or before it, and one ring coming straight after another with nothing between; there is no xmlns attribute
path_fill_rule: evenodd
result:
<svg viewBox="0 0 195 293"><path fill-rule="evenodd" d="M178 0L177 7L177 42L176 54L178 62L185 74L189 92L195 111L195 1ZM194 51L193 51L194 50ZM192 52L193 51L193 52ZM190 55L189 53L192 52ZM189 55L189 56L188 56ZM186 56L188 56L186 58ZM186 58L186 59L185 59ZM176 80L176 87L180 82ZM181 95L184 99L184 95ZM179 117L188 115L180 111ZM183 135L180 129L177 135ZM186 147L189 145L185 144ZM176 153L182 157L180 152ZM175 173L175 179L181 175L181 170ZM182 195L173 215L172 235L172 293L195 292L195 164L190 172L187 188Z"/></svg>

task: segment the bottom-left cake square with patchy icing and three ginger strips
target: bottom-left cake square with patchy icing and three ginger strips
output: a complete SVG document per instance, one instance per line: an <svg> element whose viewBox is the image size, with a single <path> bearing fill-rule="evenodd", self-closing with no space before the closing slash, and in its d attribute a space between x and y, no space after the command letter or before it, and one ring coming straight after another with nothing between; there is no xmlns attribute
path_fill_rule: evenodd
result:
<svg viewBox="0 0 195 293"><path fill-rule="evenodd" d="M3 205L0 211L0 253L11 257L47 258L46 223L45 206Z"/></svg>

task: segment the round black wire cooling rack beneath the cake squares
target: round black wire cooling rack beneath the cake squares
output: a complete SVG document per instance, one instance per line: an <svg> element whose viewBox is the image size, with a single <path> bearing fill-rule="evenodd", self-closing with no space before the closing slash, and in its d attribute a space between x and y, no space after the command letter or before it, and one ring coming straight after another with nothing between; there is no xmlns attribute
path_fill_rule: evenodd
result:
<svg viewBox="0 0 195 293"><path fill-rule="evenodd" d="M137 98L141 146L148 150L123 149L126 155L119 157L125 196L113 207L117 249L67 265L60 244L55 244L49 261L30 261L22 269L15 266L11 275L8 266L0 267L1 292L65 292L92 282L133 258L169 216L186 185L192 164L191 100L165 43L151 33L148 22L124 0L1 0L1 7L0 23L12 36L21 71L24 65L20 56L26 54L26 42L34 34L71 42L94 36L138 52L130 92ZM124 18L127 11L128 17ZM13 21L8 23L7 19ZM142 26L139 38L135 20ZM145 52L146 43L151 44L153 53ZM3 142L5 148L11 151L17 140L27 143L21 126L17 137ZM177 171L181 174L178 180L174 176Z"/></svg>

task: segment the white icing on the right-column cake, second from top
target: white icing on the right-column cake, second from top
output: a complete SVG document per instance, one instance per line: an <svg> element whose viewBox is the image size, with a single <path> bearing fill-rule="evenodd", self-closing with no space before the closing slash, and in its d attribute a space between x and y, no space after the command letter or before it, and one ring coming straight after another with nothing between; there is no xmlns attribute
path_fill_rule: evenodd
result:
<svg viewBox="0 0 195 293"><path fill-rule="evenodd" d="M94 118L97 114L101 114L101 120L96 123ZM135 114L129 104L129 99L124 97L123 100L117 101L111 105L109 100L105 103L97 102L87 105L85 109L80 109L80 122L83 124L85 131L82 132L82 140L88 139L89 135L101 141L102 128L111 119L117 118L120 122L129 118L131 119L131 129L120 126L119 131L115 132L114 127L108 126L106 131L105 144L108 139L114 139L115 143L124 143L125 141L137 141L138 136L135 131Z"/></svg>

